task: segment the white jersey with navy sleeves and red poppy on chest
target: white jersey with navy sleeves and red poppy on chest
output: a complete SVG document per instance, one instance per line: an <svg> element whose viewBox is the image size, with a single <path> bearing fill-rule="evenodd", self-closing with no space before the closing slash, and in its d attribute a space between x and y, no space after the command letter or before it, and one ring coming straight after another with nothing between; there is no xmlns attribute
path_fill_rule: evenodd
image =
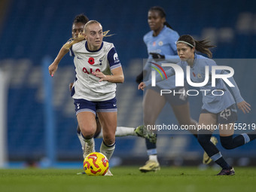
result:
<svg viewBox="0 0 256 192"><path fill-rule="evenodd" d="M108 81L99 82L99 78L92 75L92 72L111 75L112 69L121 67L114 44L103 41L99 50L91 51L84 40L73 44L70 53L74 56L76 73L72 97L95 102L113 99L116 84Z"/></svg>

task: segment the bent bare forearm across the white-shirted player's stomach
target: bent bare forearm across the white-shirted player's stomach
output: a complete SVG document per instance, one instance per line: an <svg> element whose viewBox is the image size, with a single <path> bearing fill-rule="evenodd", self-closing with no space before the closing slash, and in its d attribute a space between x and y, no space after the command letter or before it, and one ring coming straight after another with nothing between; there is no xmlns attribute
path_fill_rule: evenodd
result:
<svg viewBox="0 0 256 192"><path fill-rule="evenodd" d="M112 75L105 75L102 72L93 72L92 74L99 78L100 81L108 81L111 83L123 83L124 76L123 76L123 69L122 67L117 67L115 69L111 69Z"/></svg>

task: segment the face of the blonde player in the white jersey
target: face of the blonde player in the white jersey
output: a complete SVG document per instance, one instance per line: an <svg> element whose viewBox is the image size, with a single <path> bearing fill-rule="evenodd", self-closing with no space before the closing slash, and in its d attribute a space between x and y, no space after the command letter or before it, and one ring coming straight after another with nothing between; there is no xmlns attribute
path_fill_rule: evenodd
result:
<svg viewBox="0 0 256 192"><path fill-rule="evenodd" d="M92 23L87 26L84 35L90 50L98 50L102 45L103 32L102 25L99 23Z"/></svg>

